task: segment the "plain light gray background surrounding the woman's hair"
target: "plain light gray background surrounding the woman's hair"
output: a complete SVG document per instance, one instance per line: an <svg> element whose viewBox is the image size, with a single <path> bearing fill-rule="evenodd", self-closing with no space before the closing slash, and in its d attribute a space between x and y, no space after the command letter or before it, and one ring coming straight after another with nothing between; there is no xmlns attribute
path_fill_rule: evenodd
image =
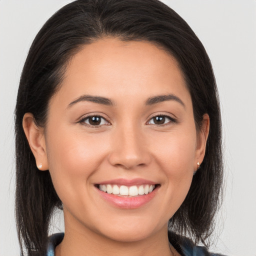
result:
<svg viewBox="0 0 256 256"><path fill-rule="evenodd" d="M14 222L13 111L35 34L70 0L0 0L0 256L19 255ZM226 193L213 251L256 255L256 1L164 0L192 27L219 88ZM61 215L54 226L62 228ZM55 231L56 228L53 228ZM219 234L220 233L220 234Z"/></svg>

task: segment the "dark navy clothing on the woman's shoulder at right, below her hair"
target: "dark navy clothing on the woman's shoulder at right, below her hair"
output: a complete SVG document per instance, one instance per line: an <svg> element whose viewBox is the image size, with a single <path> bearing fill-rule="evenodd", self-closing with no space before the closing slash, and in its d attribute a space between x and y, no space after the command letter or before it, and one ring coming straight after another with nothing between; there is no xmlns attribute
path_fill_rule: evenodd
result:
<svg viewBox="0 0 256 256"><path fill-rule="evenodd" d="M211 253L204 246L195 245L190 239L168 231L169 242L181 256L224 256Z"/></svg>

